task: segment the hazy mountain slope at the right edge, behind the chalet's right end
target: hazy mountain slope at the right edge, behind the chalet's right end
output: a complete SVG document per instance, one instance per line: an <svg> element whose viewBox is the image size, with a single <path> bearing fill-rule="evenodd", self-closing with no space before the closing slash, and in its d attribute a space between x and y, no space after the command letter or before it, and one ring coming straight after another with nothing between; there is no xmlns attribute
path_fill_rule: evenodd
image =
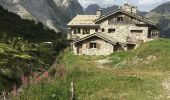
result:
<svg viewBox="0 0 170 100"><path fill-rule="evenodd" d="M157 22L162 37L170 37L170 2L154 8L146 14L146 17Z"/></svg>

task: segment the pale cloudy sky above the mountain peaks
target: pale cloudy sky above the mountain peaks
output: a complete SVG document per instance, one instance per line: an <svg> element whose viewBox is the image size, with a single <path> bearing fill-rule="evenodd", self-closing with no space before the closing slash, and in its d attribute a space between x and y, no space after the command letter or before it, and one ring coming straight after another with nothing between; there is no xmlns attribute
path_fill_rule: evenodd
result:
<svg viewBox="0 0 170 100"><path fill-rule="evenodd" d="M112 5L123 5L125 2L135 5L141 11L150 11L160 4L168 2L170 0L78 0L83 8L86 8L90 4L98 4L100 7L109 7Z"/></svg>

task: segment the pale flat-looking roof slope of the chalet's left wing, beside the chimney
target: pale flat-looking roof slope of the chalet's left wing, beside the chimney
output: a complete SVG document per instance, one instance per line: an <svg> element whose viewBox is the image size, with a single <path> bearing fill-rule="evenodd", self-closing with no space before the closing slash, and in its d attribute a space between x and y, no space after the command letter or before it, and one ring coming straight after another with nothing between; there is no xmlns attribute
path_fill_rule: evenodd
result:
<svg viewBox="0 0 170 100"><path fill-rule="evenodd" d="M77 15L71 20L68 26L96 26L94 20L97 19L96 15Z"/></svg>

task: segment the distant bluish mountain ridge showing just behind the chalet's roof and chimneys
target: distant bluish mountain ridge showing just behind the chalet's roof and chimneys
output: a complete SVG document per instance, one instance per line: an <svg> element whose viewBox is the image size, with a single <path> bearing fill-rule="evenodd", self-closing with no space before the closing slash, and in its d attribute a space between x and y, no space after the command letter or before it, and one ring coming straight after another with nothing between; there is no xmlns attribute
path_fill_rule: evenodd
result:
<svg viewBox="0 0 170 100"><path fill-rule="evenodd" d="M85 10L84 10L84 14L87 14L87 15L94 15L96 14L96 11L98 9L102 9L103 11L103 14L107 14L107 13L110 13L110 12L113 12L114 10L118 9L119 6L117 5L113 5L111 7L107 7L107 8L101 8L99 5L97 4L91 4L89 5ZM142 12L142 11L138 11L138 14L140 16L145 16L147 12Z"/></svg>

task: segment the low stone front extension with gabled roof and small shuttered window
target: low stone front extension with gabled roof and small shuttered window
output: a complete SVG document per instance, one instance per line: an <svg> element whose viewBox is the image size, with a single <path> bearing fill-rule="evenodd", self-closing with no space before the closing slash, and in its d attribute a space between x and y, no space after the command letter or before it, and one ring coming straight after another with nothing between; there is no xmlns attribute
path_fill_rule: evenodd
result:
<svg viewBox="0 0 170 100"><path fill-rule="evenodd" d="M94 33L74 42L72 51L77 55L109 55L114 51L126 50L126 44L103 33Z"/></svg>

